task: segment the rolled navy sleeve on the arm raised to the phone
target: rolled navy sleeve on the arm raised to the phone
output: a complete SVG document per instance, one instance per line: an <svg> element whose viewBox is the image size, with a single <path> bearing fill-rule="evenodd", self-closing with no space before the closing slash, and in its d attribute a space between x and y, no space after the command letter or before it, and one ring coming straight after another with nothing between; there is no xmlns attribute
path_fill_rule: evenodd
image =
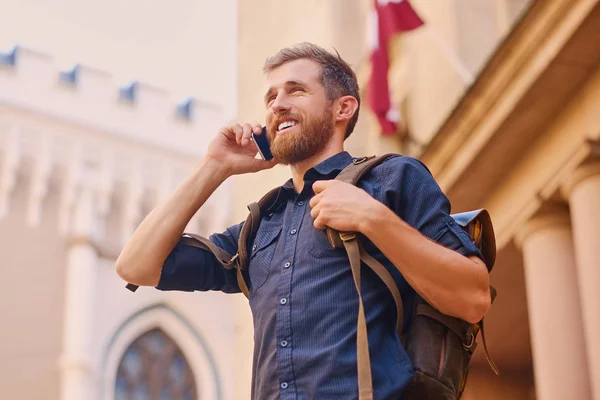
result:
<svg viewBox="0 0 600 400"><path fill-rule="evenodd" d="M232 226L223 233L213 234L209 239L229 254L235 254L242 224ZM183 244L181 241L163 264L156 288L186 292L240 292L235 269L223 268L210 251Z"/></svg>

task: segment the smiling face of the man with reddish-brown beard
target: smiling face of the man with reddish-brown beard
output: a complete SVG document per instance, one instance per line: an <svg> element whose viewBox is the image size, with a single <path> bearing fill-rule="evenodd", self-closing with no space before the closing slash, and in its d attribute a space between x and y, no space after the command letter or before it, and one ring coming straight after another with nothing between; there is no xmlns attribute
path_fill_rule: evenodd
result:
<svg viewBox="0 0 600 400"><path fill-rule="evenodd" d="M271 71L265 95L271 152L283 164L295 164L323 151L333 136L332 102L319 82L321 66L290 61Z"/></svg>

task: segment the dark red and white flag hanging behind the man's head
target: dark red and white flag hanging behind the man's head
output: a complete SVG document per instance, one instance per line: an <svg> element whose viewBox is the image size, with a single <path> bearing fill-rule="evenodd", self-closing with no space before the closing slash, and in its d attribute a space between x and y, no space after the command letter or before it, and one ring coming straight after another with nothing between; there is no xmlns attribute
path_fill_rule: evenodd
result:
<svg viewBox="0 0 600 400"><path fill-rule="evenodd" d="M388 70L388 46L394 35L423 25L408 0L374 0L371 21L371 78L368 103L377 115L383 134L396 133L400 112L392 107Z"/></svg>

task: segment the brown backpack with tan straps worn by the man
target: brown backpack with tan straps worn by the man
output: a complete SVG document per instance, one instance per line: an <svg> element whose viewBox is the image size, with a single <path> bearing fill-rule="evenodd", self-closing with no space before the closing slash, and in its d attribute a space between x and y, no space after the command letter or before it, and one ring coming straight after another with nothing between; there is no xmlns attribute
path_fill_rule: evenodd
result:
<svg viewBox="0 0 600 400"><path fill-rule="evenodd" d="M379 157L371 156L355 159L335 179L356 185L371 168L395 156L400 155L385 154ZM248 247L258 230L261 211L265 211L275 201L278 191L279 188L275 188L257 203L248 206L250 213L240 232L238 253L233 256L215 246L210 240L195 234L185 234L181 239L184 244L212 252L224 268L237 269L239 287L247 298L250 295L242 270L248 268ZM490 272L496 258L496 244L491 218L487 210L479 209L453 214L452 217L481 251L488 272ZM391 292L396 303L396 332L402 340L415 369L415 376L405 389L403 400L460 399L465 389L471 356L477 347L476 339L479 332L481 332L486 359L494 373L499 374L498 368L487 350L483 319L476 324L471 324L444 315L421 300L414 310L411 310L411 323L406 333L404 333L402 297L388 270L364 250L356 232L338 232L327 228L327 237L333 247L346 249L359 299L356 339L359 400L373 399L367 325L360 291L360 268L362 263L378 275ZM128 284L127 288L135 291L137 286ZM490 292L493 302L496 297L496 290L490 286Z"/></svg>

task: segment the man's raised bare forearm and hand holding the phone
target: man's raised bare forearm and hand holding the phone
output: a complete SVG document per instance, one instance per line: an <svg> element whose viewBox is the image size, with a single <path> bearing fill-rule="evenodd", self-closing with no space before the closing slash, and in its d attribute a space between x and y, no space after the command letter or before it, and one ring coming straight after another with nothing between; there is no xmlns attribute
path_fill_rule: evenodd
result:
<svg viewBox="0 0 600 400"><path fill-rule="evenodd" d="M253 129L262 131L257 123L221 129L192 173L144 218L117 259L116 270L123 280L138 286L158 285L162 266L185 227L223 180L277 164L255 158Z"/></svg>

